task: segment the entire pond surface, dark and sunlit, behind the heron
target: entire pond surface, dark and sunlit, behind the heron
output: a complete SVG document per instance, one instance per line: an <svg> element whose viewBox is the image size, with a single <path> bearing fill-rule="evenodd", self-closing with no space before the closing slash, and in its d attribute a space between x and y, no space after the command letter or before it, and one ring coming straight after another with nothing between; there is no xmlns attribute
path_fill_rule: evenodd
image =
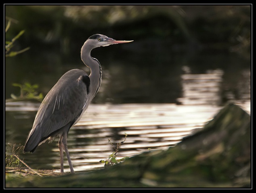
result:
<svg viewBox="0 0 256 193"><path fill-rule="evenodd" d="M239 101L250 111L250 61L239 55L202 50L174 52L168 45L150 47L134 41L134 45L98 48L92 56L102 65L103 80L94 104L69 131L68 147L75 170L103 166L99 161L107 160L114 150L109 138L116 144L127 133L118 158L133 156L175 146L202 127L227 101ZM79 49L72 57L42 52L6 58L6 98L11 93L19 95L19 88L12 83L26 81L38 84L45 96L73 68L88 72ZM219 79L209 78L216 72L221 74ZM189 80L184 78L187 74L196 75ZM8 143L24 145L38 105L6 104L6 148ZM57 141L46 142L33 154L20 152L19 156L32 168L58 171Z"/></svg>

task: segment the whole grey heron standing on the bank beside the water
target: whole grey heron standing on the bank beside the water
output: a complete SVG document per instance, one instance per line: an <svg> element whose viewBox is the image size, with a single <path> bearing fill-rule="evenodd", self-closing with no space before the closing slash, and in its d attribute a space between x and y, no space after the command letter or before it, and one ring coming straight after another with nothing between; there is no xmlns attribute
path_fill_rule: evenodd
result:
<svg viewBox="0 0 256 193"><path fill-rule="evenodd" d="M24 152L34 152L46 140L52 141L59 136L61 172L64 172L64 149L70 171L74 173L67 150L67 133L82 117L101 86L101 65L96 58L91 57L90 53L96 47L128 42L131 41L116 41L101 34L94 34L85 41L81 49L81 59L90 68L90 75L88 76L83 70L73 69L58 80L38 109L33 127L25 142Z"/></svg>

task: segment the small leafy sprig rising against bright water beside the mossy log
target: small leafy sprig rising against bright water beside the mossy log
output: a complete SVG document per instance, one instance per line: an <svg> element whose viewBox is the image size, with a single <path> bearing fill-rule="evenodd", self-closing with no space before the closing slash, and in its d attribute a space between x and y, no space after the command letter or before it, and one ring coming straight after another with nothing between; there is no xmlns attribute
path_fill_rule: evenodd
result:
<svg viewBox="0 0 256 193"><path fill-rule="evenodd" d="M105 164L104 166L113 166L115 164L118 164L119 162L121 161L124 161L126 160L126 158L129 158L129 157L124 157L124 158L121 158L121 159L116 159L116 154L118 153L118 151L120 150L121 148L121 145L125 142L126 140L126 137L127 137L127 134L125 134L125 137L124 137L124 141L122 142L118 142L117 145L116 145L116 148L115 146L112 144L111 142L111 139L109 139L109 143L113 146L113 148L115 149L115 151L109 155L109 159L108 160L101 160L100 163L102 164Z"/></svg>

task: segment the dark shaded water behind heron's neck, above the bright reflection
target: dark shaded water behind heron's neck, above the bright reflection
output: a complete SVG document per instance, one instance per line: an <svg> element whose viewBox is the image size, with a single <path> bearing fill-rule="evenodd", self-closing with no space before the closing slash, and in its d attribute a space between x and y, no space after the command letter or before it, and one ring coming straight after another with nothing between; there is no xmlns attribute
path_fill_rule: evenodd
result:
<svg viewBox="0 0 256 193"><path fill-rule="evenodd" d="M130 44L130 45L129 45ZM81 45L77 45L80 48ZM184 45L185 46L185 45ZM103 68L102 85L93 103L176 103L183 96L182 78L184 66L191 74L205 74L208 70L223 71L221 102L227 95L241 99L241 89L250 81L250 61L235 53L216 50L183 49L174 51L166 44L148 45L134 41L127 45L99 47L92 51ZM63 55L58 51L32 52L6 58L5 96L19 95L19 88L12 83L38 84L44 96L68 70L89 69L77 54ZM247 86L247 87L245 87Z"/></svg>

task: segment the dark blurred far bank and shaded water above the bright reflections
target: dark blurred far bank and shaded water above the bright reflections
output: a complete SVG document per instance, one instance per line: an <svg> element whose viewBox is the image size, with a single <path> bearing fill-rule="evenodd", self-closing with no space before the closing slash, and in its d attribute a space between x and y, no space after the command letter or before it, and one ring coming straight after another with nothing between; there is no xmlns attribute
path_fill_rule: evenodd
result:
<svg viewBox="0 0 256 193"><path fill-rule="evenodd" d="M103 68L93 103L176 103L182 96L183 66L191 73L224 71L222 98L239 99L251 64L251 7L248 5L5 5L5 39L21 30L6 57L5 97L19 95L12 83L38 84L44 96L68 70L88 72L80 49L101 33L132 43L92 51Z"/></svg>

